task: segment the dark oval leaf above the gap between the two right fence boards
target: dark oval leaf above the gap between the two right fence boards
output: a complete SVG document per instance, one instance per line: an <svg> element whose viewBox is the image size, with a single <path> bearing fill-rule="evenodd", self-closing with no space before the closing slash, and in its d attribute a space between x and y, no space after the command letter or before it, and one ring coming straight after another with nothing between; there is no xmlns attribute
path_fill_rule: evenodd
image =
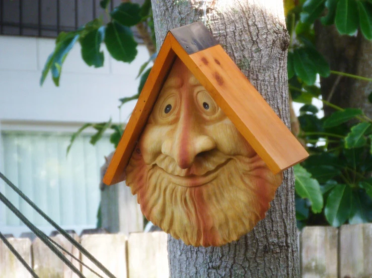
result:
<svg viewBox="0 0 372 278"><path fill-rule="evenodd" d="M335 186L327 198L324 214L327 221L334 227L339 227L349 219L351 210L351 189L339 184Z"/></svg>

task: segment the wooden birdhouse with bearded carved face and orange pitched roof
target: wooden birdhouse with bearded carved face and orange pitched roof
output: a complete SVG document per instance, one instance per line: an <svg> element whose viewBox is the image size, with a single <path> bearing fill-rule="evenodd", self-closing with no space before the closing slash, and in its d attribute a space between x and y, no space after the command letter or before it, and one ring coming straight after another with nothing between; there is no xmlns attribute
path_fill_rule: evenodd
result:
<svg viewBox="0 0 372 278"><path fill-rule="evenodd" d="M264 218L281 172L308 156L198 22L168 32L103 181L126 179L175 238L218 246Z"/></svg>

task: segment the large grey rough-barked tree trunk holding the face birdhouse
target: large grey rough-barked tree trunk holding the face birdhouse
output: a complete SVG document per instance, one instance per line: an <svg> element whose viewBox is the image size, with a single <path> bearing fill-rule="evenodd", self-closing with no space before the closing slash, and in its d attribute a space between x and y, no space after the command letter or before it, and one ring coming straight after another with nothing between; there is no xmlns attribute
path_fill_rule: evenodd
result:
<svg viewBox="0 0 372 278"><path fill-rule="evenodd" d="M281 0L153 0L152 4L158 48L168 30L203 21L290 126L286 70L289 36ZM193 247L169 236L171 277L298 277L293 189L290 169L284 173L266 218L233 243Z"/></svg>

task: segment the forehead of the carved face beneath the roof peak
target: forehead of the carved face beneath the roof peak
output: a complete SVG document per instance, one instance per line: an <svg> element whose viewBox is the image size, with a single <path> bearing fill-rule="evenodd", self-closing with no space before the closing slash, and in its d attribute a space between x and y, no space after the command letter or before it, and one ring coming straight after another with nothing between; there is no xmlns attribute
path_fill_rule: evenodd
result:
<svg viewBox="0 0 372 278"><path fill-rule="evenodd" d="M199 80L191 73L186 65L177 58L172 66L172 69L164 82L163 89L173 87L180 88L184 85L200 86Z"/></svg>

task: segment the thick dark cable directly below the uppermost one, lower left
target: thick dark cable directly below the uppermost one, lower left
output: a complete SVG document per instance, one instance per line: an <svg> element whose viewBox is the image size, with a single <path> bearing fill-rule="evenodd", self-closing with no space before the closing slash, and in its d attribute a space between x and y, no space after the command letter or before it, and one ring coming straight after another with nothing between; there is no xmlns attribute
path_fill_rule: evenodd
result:
<svg viewBox="0 0 372 278"><path fill-rule="evenodd" d="M75 272L76 274L78 274L79 277L81 278L87 278L86 276L84 276L80 270L78 268L76 268L75 265L73 265L54 245L53 243L51 243L49 241L49 238L48 236L42 232L41 230L39 230L35 225L33 225L8 199L7 197L5 197L3 195L3 193L0 192L0 201L2 201L15 215L17 215L17 217L23 222L26 224L27 227L29 227L29 229L31 231L34 232L34 234L41 239L42 242L44 242L44 244L46 246L48 246L48 248L50 250L52 250L52 252L54 254L56 254L69 268L71 268L71 270L73 272Z"/></svg>

